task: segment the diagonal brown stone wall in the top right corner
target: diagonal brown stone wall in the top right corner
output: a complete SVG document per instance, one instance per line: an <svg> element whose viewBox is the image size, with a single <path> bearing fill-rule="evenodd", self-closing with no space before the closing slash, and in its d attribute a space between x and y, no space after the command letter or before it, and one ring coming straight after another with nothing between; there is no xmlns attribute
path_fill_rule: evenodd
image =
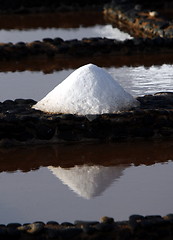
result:
<svg viewBox="0 0 173 240"><path fill-rule="evenodd" d="M115 0L105 5L104 14L111 23L118 25L120 29L125 29L132 36L173 37L172 21L165 20L157 11L143 9L143 6L135 4L135 1Z"/></svg>

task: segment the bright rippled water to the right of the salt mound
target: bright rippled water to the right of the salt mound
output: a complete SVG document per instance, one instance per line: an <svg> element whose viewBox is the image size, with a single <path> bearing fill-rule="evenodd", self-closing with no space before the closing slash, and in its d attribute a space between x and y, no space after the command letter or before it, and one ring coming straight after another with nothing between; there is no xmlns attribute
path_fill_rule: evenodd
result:
<svg viewBox="0 0 173 240"><path fill-rule="evenodd" d="M173 91L173 65L109 68L121 85L133 96Z"/></svg>

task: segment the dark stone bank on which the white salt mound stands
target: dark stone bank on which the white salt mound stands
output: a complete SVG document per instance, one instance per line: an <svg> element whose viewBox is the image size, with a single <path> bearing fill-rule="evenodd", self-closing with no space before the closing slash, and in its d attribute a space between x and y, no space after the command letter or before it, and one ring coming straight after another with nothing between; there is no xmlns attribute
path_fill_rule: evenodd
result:
<svg viewBox="0 0 173 240"><path fill-rule="evenodd" d="M86 116L46 114L31 108L33 100L6 100L0 104L0 145L172 138L173 93L137 99L138 109Z"/></svg>

